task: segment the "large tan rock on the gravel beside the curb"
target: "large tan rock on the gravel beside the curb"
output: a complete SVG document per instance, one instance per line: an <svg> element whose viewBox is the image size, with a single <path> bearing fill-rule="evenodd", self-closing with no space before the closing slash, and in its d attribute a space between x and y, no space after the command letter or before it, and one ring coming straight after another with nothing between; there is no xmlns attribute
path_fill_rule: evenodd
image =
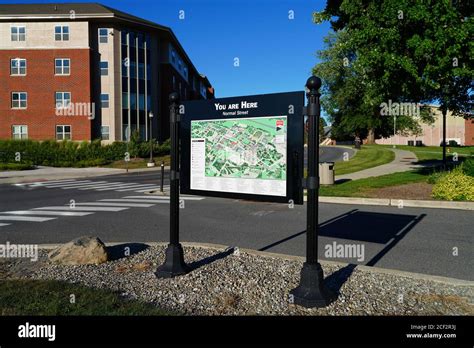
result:
<svg viewBox="0 0 474 348"><path fill-rule="evenodd" d="M52 262L63 265L98 265L108 260L107 249L97 237L76 238L49 253Z"/></svg>

